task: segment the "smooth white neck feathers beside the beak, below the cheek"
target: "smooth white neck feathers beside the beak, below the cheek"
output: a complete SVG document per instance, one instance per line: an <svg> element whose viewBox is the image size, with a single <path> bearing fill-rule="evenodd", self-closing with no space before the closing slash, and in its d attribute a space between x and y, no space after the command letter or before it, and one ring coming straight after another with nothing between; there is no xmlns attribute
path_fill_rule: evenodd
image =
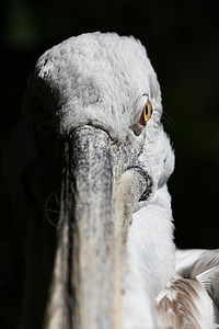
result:
<svg viewBox="0 0 219 329"><path fill-rule="evenodd" d="M175 248L166 186L134 214L124 283L124 328L154 328L154 298L174 273Z"/></svg>

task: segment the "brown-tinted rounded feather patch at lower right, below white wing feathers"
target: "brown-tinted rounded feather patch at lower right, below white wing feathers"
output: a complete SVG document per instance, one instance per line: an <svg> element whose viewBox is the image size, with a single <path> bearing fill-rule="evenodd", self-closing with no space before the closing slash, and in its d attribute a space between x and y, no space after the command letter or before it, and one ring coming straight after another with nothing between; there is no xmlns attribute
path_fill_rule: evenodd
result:
<svg viewBox="0 0 219 329"><path fill-rule="evenodd" d="M212 319L212 300L197 279L173 280L157 297L157 329L210 329Z"/></svg>

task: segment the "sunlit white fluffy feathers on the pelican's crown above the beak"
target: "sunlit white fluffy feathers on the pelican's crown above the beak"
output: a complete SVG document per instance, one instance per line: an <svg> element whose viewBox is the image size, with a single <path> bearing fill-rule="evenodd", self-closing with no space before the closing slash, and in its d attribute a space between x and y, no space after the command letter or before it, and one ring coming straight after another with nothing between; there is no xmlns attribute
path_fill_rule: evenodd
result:
<svg viewBox="0 0 219 329"><path fill-rule="evenodd" d="M62 134L92 124L122 139L140 115L143 94L152 102L154 117L160 118L157 76L145 47L134 37L112 33L71 37L38 59L35 75L59 97Z"/></svg>

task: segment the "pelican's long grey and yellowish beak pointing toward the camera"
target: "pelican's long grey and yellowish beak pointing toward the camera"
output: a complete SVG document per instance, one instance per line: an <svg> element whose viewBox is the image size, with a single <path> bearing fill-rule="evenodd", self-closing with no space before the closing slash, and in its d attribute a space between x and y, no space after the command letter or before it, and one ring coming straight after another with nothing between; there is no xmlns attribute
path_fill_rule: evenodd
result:
<svg viewBox="0 0 219 329"><path fill-rule="evenodd" d="M45 328L120 328L126 237L147 189L102 129L76 129L65 150L61 209ZM128 197L127 197L128 195Z"/></svg>

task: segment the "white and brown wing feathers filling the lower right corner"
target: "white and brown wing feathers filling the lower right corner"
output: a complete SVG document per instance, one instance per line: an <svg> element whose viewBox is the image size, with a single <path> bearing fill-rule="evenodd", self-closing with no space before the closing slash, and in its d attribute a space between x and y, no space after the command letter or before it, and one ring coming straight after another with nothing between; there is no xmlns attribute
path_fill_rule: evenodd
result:
<svg viewBox="0 0 219 329"><path fill-rule="evenodd" d="M219 249L177 249L176 272L155 299L157 329L218 329Z"/></svg>

